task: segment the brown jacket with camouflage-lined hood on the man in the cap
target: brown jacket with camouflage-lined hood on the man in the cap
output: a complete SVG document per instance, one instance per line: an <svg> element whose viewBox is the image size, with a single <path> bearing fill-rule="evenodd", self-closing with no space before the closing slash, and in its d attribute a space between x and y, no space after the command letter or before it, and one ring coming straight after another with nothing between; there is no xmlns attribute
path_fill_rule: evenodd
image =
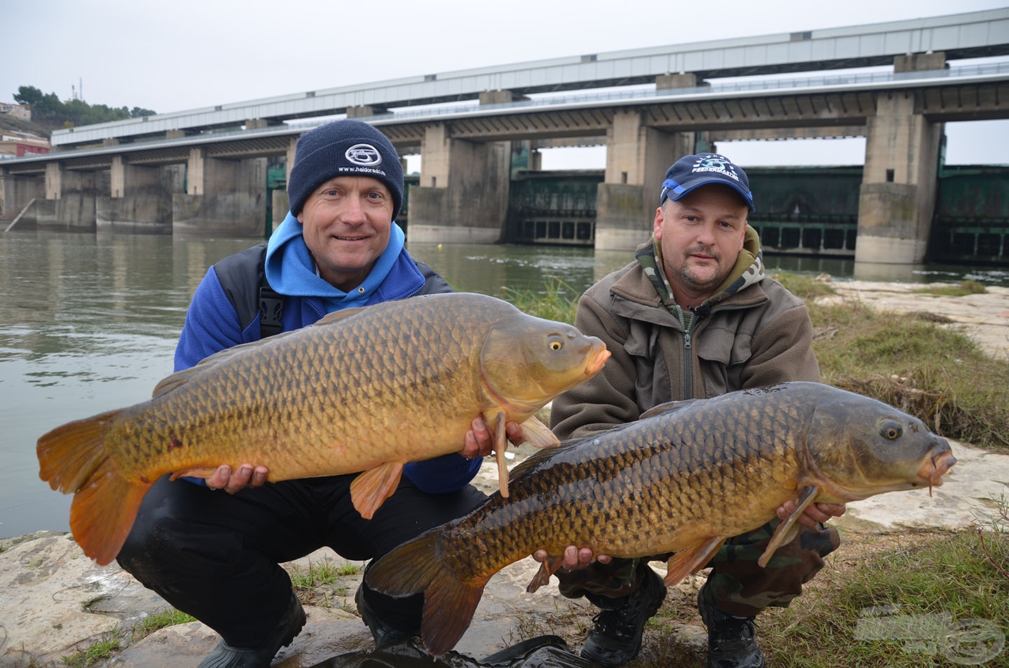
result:
<svg viewBox="0 0 1009 668"><path fill-rule="evenodd" d="M820 379L805 304L764 274L753 228L744 245L720 289L682 319L686 327L671 300L660 295L661 276L653 281L652 241L639 247L634 262L582 295L575 325L605 341L612 357L598 374L554 400L551 425L558 438L637 420L668 401Z"/></svg>

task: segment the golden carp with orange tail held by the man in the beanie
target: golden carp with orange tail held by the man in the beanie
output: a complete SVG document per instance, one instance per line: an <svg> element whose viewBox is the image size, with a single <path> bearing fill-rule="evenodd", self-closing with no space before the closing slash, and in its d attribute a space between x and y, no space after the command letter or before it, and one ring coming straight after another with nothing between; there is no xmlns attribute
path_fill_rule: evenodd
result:
<svg viewBox="0 0 1009 668"><path fill-rule="evenodd" d="M70 525L85 554L119 553L158 477L209 477L264 464L270 480L365 471L351 484L370 519L406 462L458 452L473 419L556 445L534 414L609 356L571 325L483 295L414 297L211 355L164 378L149 402L68 423L38 439L39 477L75 493Z"/></svg>

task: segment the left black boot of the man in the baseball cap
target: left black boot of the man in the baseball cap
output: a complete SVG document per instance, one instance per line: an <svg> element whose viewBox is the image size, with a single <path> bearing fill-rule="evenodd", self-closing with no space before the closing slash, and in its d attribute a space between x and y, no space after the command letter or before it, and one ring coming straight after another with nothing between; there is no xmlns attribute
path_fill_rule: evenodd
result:
<svg viewBox="0 0 1009 668"><path fill-rule="evenodd" d="M641 651L645 624L666 597L666 585L651 568L638 590L619 607L603 609L592 618L581 656L605 668L623 666Z"/></svg>

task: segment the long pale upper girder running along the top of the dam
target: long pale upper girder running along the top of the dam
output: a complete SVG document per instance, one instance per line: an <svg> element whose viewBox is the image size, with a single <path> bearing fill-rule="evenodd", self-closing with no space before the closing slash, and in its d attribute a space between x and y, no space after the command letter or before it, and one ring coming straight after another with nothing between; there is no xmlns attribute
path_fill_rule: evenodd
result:
<svg viewBox="0 0 1009 668"><path fill-rule="evenodd" d="M1009 55L1009 8L945 16L581 53L542 61L423 74L304 91L140 119L58 130L53 145L126 139L166 131L199 131L262 120L279 123L373 108L376 111L475 100L510 93L521 98L558 91L670 84L677 73L697 81L726 77L889 66L909 54L945 61ZM912 69L923 69L914 67ZM506 96L508 97L508 96Z"/></svg>

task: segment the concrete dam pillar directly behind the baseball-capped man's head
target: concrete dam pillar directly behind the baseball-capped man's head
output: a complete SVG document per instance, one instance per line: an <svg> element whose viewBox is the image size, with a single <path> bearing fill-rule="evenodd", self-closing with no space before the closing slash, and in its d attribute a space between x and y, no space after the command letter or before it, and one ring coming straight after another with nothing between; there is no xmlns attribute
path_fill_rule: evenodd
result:
<svg viewBox="0 0 1009 668"><path fill-rule="evenodd" d="M633 250L652 234L666 170L693 152L693 132L669 134L620 112L606 130L606 173L595 196L595 247Z"/></svg>

